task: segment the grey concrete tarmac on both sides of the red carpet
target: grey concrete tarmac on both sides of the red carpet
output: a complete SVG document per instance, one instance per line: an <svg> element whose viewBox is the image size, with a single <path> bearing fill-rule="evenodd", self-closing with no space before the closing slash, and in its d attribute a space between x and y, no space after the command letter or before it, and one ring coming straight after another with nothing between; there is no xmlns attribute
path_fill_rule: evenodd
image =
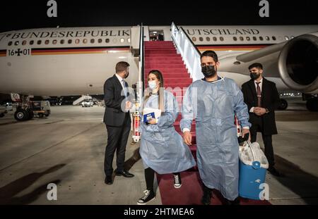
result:
<svg viewBox="0 0 318 219"><path fill-rule="evenodd" d="M305 102L288 99L276 111L273 135L276 168L283 177L266 174L271 204L318 204L318 113ZM135 205L146 182L138 156L139 143L126 146L126 168L134 177L114 177L104 183L107 132L105 108L52 106L48 118L17 122L13 112L0 118L0 204ZM257 142L263 144L261 134ZM114 168L115 159L114 159ZM49 191L57 185L57 200ZM157 197L151 204L162 204Z"/></svg>

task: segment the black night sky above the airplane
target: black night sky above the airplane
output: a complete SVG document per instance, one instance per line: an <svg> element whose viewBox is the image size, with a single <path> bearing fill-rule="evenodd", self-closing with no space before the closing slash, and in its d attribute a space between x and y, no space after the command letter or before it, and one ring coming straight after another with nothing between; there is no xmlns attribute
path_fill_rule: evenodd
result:
<svg viewBox="0 0 318 219"><path fill-rule="evenodd" d="M269 0L269 18L259 0L126 1L57 0L57 18L47 0L1 1L0 32L40 27L139 25L310 25L318 24L316 1Z"/></svg>

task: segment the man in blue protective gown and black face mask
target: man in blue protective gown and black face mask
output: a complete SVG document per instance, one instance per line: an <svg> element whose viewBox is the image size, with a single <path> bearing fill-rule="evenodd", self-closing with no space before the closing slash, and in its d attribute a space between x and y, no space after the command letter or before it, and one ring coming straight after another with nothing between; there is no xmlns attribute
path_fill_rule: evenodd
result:
<svg viewBox="0 0 318 219"><path fill-rule="evenodd" d="M249 134L249 113L234 80L219 77L220 63L214 51L201 55L204 78L189 86L182 104L180 123L184 142L191 145L191 123L196 123L196 157L204 183L202 204L210 204L211 189L218 189L227 204L238 204L239 144L235 115L242 137Z"/></svg>

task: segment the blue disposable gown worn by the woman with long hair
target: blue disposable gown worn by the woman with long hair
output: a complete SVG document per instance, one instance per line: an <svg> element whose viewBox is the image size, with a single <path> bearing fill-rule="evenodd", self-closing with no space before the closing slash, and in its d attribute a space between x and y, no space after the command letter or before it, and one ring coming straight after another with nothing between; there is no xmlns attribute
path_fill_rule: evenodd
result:
<svg viewBox="0 0 318 219"><path fill-rule="evenodd" d="M141 146L139 153L145 168L159 174L178 173L196 165L192 153L182 137L175 131L173 123L179 113L175 96L164 91L165 113L155 125L141 121ZM158 108L158 95L151 95L145 108ZM143 117L141 117L143 118Z"/></svg>

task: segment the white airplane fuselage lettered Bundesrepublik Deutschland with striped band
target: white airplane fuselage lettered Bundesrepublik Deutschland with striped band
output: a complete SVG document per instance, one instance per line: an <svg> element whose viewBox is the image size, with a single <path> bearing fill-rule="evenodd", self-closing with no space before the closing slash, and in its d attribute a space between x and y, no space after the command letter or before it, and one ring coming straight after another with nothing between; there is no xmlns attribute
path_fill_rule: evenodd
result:
<svg viewBox="0 0 318 219"><path fill-rule="evenodd" d="M199 51L217 52L220 75L234 79L238 85L249 80L249 73L246 66L231 65L231 57L318 31L318 25L182 27ZM145 40L149 40L151 30L163 30L165 40L171 40L170 26L145 27ZM103 84L114 75L118 61L130 63L127 82L131 86L139 80L139 63L131 53L132 37L131 27L60 27L1 33L0 93L103 94ZM266 61L265 75L269 73L266 76L276 82L278 89L289 89L271 65L271 58Z"/></svg>

